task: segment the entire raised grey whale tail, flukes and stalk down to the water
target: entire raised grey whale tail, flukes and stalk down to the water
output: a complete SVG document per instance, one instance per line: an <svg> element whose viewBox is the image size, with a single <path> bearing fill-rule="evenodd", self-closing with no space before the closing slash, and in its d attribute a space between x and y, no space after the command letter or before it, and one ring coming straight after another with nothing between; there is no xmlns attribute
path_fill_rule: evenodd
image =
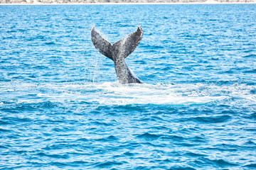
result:
<svg viewBox="0 0 256 170"><path fill-rule="evenodd" d="M137 76L132 72L124 59L130 55L135 48L139 45L142 40L142 28L138 26L138 29L127 37L115 42L113 45L102 38L102 36L97 33L95 27L91 31L91 39L93 45L96 49L109 57L114 62L114 69L117 74L117 79L120 84L143 84L144 82L139 80Z"/></svg>

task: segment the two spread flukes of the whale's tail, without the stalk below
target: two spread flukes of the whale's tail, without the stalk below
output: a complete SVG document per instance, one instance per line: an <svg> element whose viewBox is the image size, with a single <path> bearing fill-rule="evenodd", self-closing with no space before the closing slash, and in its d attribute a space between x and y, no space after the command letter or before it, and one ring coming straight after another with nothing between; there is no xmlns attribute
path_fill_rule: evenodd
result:
<svg viewBox="0 0 256 170"><path fill-rule="evenodd" d="M137 30L134 33L130 33L122 40L111 44L102 36L100 33L97 33L95 30L95 26L93 26L91 30L91 39L93 45L95 45L96 49L109 57L111 60L117 60L115 57L123 57L123 60L130 55L135 48L139 45L139 42L142 40L143 31L140 26L138 26Z"/></svg>

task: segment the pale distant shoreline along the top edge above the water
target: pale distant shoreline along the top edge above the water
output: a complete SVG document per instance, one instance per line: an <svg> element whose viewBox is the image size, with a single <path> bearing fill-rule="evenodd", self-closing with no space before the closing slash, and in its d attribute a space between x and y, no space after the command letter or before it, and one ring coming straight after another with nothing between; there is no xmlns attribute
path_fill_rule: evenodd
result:
<svg viewBox="0 0 256 170"><path fill-rule="evenodd" d="M254 4L256 0L0 0L0 4Z"/></svg>

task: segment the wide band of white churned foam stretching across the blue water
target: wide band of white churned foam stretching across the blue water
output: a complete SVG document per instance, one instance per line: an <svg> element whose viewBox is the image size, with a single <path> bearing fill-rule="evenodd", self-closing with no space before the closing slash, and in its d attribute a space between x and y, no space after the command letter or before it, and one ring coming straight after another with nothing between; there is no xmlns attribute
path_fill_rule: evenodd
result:
<svg viewBox="0 0 256 170"><path fill-rule="evenodd" d="M215 85L215 84L119 84L105 82L103 84L12 84L11 89L20 91L23 95L36 93L38 99L26 98L18 102L38 102L48 100L61 103L90 102L101 105L129 104L170 104L190 105L217 103L241 98L255 103L256 96L250 91L255 86L245 84ZM31 90L29 90L31 89ZM6 88L6 91L9 91Z"/></svg>

